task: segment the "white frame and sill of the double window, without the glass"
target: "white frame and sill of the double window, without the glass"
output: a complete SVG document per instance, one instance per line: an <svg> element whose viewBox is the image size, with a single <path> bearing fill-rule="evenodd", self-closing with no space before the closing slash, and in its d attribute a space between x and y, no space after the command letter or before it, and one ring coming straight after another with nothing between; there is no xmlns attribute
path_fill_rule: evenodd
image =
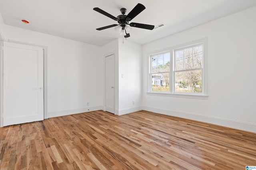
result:
<svg viewBox="0 0 256 170"><path fill-rule="evenodd" d="M174 82L175 82L175 70L174 68L176 68L175 64L175 55L174 55L174 51L177 49L186 49L188 47L192 47L194 45L198 45L202 43L203 44L203 68L202 68L202 92L175 92L175 86L174 86ZM148 53L148 95L154 95L154 96L171 96L171 97L179 97L179 98L196 98L196 99L207 99L208 98L208 80L207 80L207 67L208 67L208 39L204 38L204 39L198 39L196 41L191 41L188 43L184 43L181 45L177 45L174 47L170 47L167 49L162 49L162 50L158 50L152 53ZM154 55L159 55L159 54L164 54L170 52L170 76L169 76L169 91L168 92L162 92L162 91L152 91L152 78L151 76L151 69L152 69L152 59L151 57ZM171 82L172 81L172 82Z"/></svg>

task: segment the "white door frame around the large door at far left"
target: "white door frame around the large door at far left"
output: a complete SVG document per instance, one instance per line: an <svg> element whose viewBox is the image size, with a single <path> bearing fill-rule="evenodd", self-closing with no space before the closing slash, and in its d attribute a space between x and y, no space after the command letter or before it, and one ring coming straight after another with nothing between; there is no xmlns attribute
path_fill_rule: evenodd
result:
<svg viewBox="0 0 256 170"><path fill-rule="evenodd" d="M23 44L23 45L30 45L30 46L36 46L36 47L41 47L44 51L43 54L43 59L44 59L44 119L48 119L48 85L47 85L47 74L48 74L48 67L47 67L47 47L46 46L42 46L42 45L35 45L35 44L31 44L31 43L24 43L24 42L20 42L20 41L13 41L13 40L9 40L8 42L10 43L17 43L17 44ZM4 120L4 113L3 113L3 57L4 57L4 40L1 39L0 36L0 127L3 127L3 120Z"/></svg>

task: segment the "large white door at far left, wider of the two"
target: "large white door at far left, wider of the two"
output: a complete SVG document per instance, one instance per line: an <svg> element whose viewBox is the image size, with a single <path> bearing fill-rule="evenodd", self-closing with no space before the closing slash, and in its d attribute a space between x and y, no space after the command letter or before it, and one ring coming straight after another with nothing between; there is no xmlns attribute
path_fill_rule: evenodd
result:
<svg viewBox="0 0 256 170"><path fill-rule="evenodd" d="M43 53L41 47L4 42L4 126L44 119Z"/></svg>

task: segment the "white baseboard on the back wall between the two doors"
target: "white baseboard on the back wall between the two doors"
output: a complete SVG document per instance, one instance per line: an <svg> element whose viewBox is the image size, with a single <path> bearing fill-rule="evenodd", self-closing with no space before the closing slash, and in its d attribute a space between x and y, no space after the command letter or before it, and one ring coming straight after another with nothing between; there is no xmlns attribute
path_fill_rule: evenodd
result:
<svg viewBox="0 0 256 170"><path fill-rule="evenodd" d="M60 111L51 111L47 113L47 117L59 117L59 116L66 116L66 115L73 115L77 113L84 113L89 111L96 111L102 110L102 106L94 106L94 107L86 107L86 108L79 108L79 109L71 109L71 110L60 110Z"/></svg>

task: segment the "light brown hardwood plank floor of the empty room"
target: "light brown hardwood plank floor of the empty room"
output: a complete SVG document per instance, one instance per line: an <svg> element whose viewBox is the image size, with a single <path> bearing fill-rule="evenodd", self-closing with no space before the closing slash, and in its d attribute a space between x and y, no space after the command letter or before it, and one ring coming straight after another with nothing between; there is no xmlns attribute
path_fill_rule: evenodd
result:
<svg viewBox="0 0 256 170"><path fill-rule="evenodd" d="M256 133L138 111L92 111L0 128L1 170L245 170Z"/></svg>

